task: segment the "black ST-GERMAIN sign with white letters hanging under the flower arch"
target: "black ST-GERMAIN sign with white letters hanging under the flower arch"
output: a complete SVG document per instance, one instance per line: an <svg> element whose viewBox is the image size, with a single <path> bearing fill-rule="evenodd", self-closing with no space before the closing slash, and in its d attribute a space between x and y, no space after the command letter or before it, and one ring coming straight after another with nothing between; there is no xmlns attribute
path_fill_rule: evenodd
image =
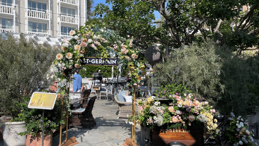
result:
<svg viewBox="0 0 259 146"><path fill-rule="evenodd" d="M97 58L97 57L82 57L82 65L111 65L119 66L119 58ZM107 60L106 60L107 59Z"/></svg>

